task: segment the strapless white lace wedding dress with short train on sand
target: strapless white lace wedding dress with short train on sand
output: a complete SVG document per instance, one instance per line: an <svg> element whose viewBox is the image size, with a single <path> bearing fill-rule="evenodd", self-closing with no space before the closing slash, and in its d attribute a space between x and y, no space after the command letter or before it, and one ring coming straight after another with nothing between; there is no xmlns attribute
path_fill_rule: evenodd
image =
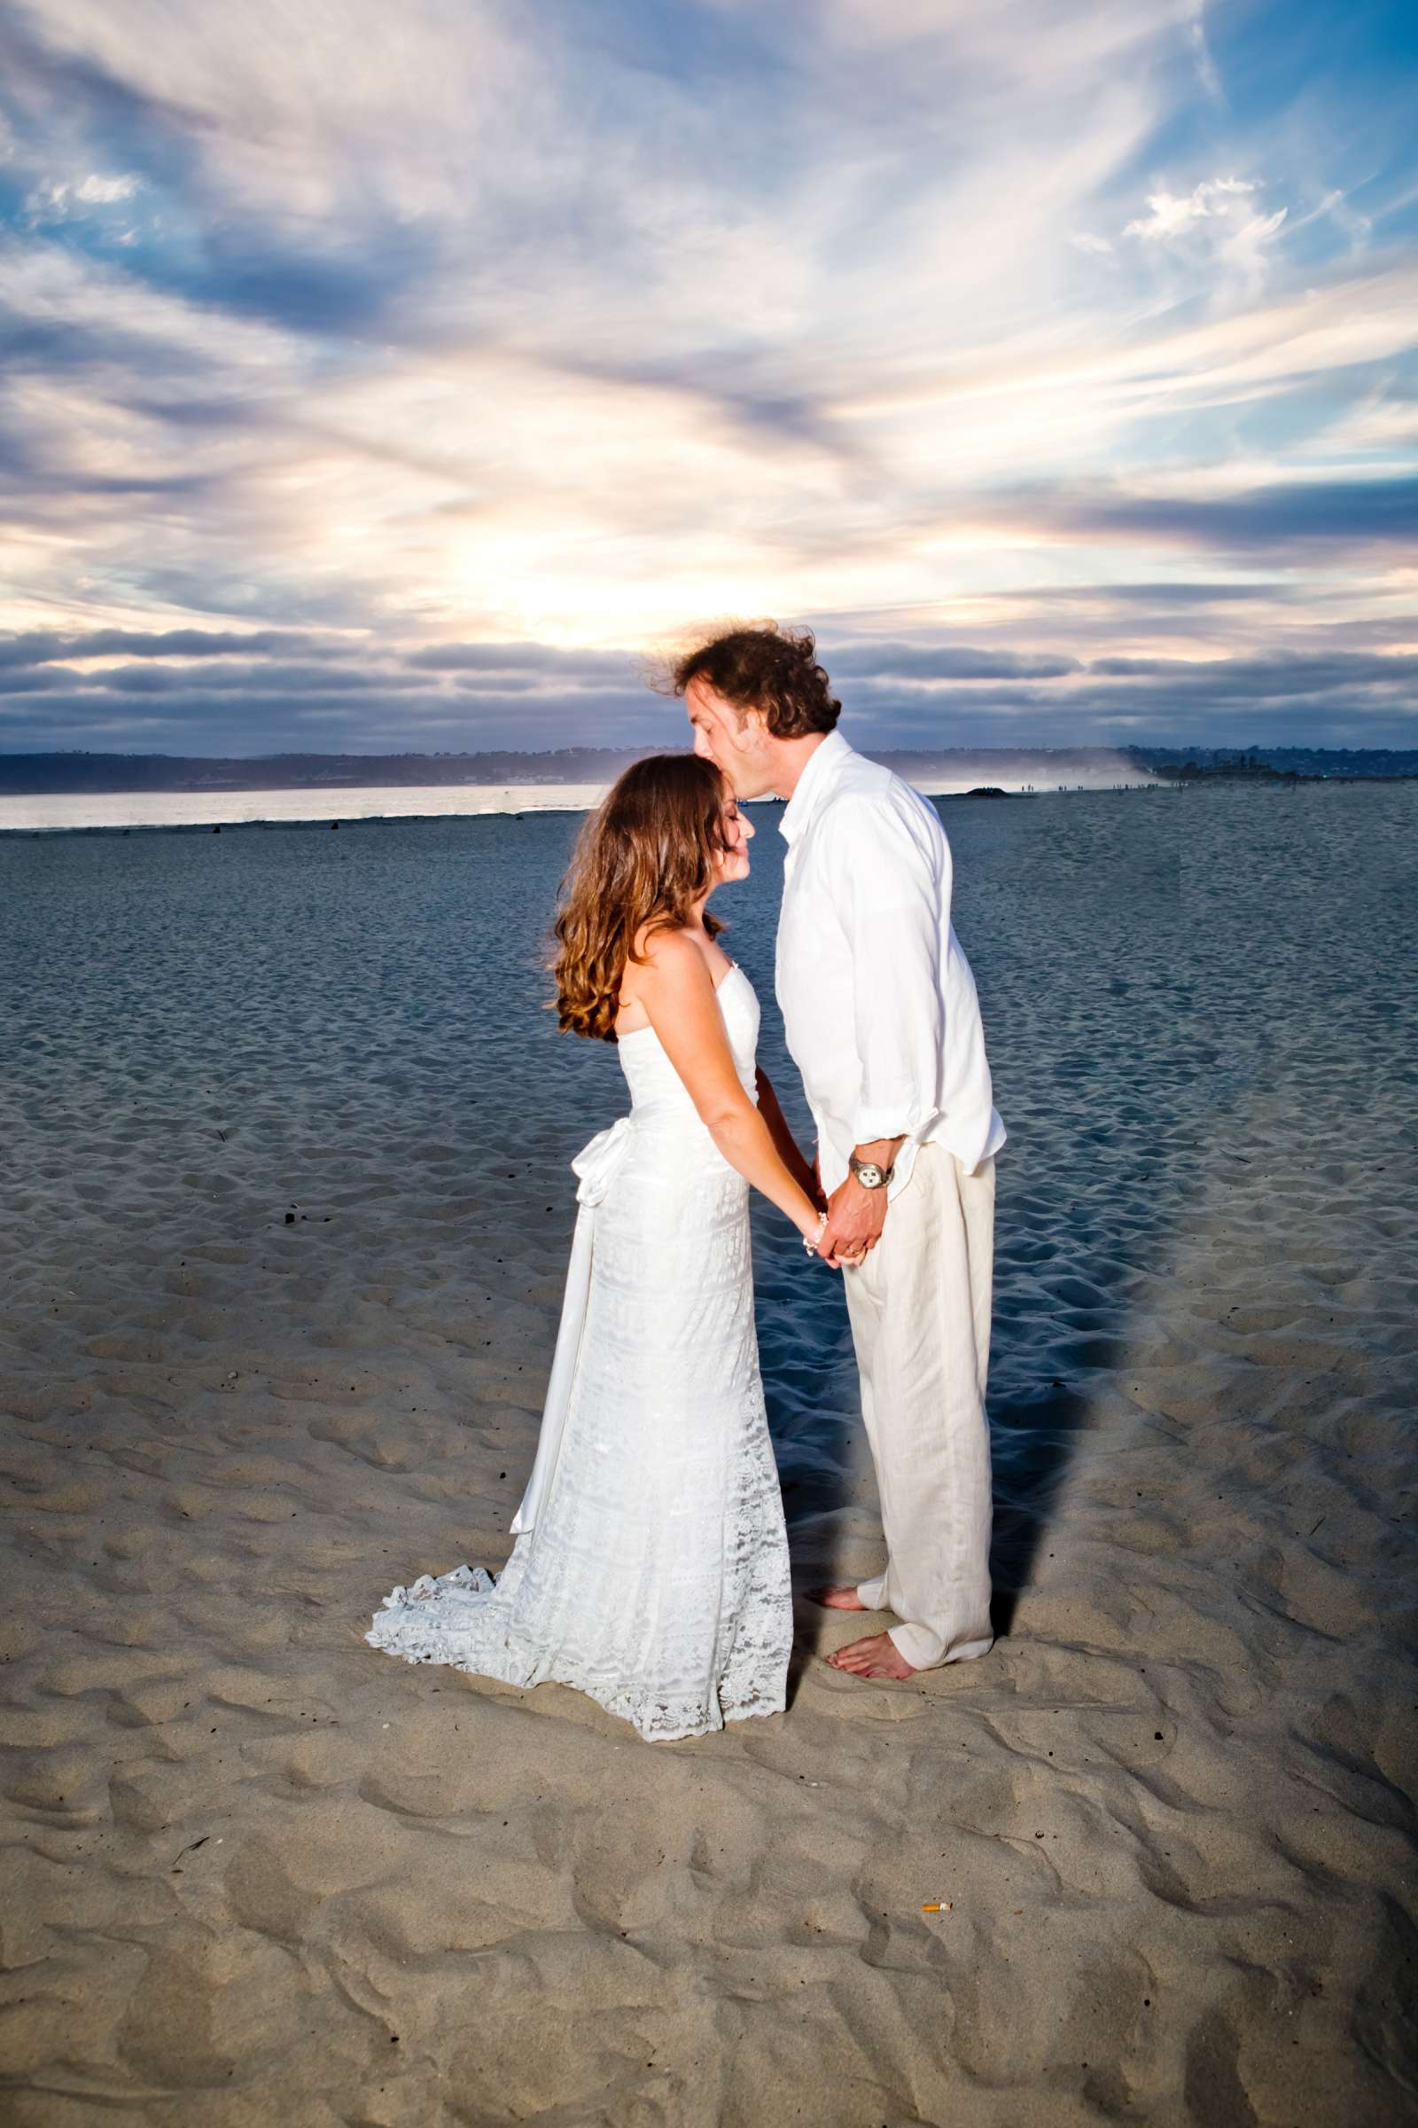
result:
<svg viewBox="0 0 1418 2128"><path fill-rule="evenodd" d="M719 985L753 1094L759 1000ZM542 1436L502 1575L393 1590L366 1639L510 1685L576 1685L651 1741L784 1705L793 1611L753 1321L748 1185L653 1028L631 1113L572 1162L580 1215Z"/></svg>

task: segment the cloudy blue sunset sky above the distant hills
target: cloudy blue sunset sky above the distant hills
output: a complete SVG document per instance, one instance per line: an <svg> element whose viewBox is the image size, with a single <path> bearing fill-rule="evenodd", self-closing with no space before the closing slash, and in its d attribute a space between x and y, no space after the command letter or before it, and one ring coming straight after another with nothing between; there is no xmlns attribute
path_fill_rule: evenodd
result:
<svg viewBox="0 0 1418 2128"><path fill-rule="evenodd" d="M1418 9L0 0L0 751L1418 747Z"/></svg>

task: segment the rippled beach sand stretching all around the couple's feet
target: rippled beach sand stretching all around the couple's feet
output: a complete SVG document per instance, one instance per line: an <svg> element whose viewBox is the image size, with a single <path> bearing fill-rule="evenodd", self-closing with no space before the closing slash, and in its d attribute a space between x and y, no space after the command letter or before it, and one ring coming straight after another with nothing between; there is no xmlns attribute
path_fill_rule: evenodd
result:
<svg viewBox="0 0 1418 2128"><path fill-rule="evenodd" d="M1001 1639L863 1685L804 1602L674 1747L361 1641L529 1468L621 1107L538 1002L574 824L0 841L0 2117L1418 2119L1416 811L942 807ZM840 1294L757 1266L795 1575L874 1570Z"/></svg>

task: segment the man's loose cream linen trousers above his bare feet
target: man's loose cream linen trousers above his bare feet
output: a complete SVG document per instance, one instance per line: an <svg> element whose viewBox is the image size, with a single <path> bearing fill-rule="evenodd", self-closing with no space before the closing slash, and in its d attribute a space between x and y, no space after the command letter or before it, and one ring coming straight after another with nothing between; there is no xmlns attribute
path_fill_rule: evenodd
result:
<svg viewBox="0 0 1418 2128"><path fill-rule="evenodd" d="M923 1145L882 1238L846 1270L887 1534L887 1570L857 1587L895 1611L916 1670L991 1647L991 1451L984 1424L995 1256L995 1162L967 1175Z"/></svg>

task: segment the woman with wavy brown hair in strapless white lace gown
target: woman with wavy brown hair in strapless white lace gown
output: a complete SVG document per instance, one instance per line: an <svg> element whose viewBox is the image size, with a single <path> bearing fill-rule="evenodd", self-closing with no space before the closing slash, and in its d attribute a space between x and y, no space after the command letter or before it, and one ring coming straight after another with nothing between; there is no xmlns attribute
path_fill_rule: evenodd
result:
<svg viewBox="0 0 1418 2128"><path fill-rule="evenodd" d="M759 1000L706 902L748 877L712 762L657 755L591 815L557 917L563 1028L631 1111L572 1162L576 1241L531 1483L497 1581L393 1590L366 1639L576 1685L651 1741L784 1705L789 1551L753 1321L748 1185L812 1247L812 1170L755 1068ZM757 1102L755 1102L757 1092Z"/></svg>

